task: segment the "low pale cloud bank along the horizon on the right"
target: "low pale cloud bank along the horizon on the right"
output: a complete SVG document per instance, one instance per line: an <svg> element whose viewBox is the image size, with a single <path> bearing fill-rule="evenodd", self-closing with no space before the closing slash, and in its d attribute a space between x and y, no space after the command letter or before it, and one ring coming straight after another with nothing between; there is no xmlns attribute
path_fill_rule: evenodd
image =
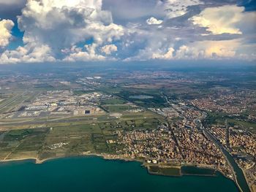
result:
<svg viewBox="0 0 256 192"><path fill-rule="evenodd" d="M256 58L256 44L246 45L242 39L222 40L222 41L196 41L188 42L178 48L175 42L170 44L168 49L165 45L159 47L146 47L140 50L138 55L127 58L125 61L146 61L148 59L246 59Z"/></svg>

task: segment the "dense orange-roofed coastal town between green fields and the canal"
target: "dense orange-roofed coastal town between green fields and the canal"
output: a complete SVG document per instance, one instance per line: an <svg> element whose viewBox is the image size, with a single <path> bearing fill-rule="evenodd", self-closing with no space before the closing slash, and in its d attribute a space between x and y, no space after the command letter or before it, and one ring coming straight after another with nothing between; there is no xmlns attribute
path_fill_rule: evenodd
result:
<svg viewBox="0 0 256 192"><path fill-rule="evenodd" d="M143 158L148 164L190 165L217 169L233 178L221 150L199 131L165 127L126 132L118 141L124 158Z"/></svg>

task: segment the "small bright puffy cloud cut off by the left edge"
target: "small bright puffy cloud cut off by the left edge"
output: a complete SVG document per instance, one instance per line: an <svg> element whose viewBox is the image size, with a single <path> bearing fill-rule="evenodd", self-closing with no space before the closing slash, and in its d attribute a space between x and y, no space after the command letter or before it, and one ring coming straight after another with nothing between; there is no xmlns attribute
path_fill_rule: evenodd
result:
<svg viewBox="0 0 256 192"><path fill-rule="evenodd" d="M12 37L12 27L14 23L12 20L0 20L0 47L9 45L10 38Z"/></svg>

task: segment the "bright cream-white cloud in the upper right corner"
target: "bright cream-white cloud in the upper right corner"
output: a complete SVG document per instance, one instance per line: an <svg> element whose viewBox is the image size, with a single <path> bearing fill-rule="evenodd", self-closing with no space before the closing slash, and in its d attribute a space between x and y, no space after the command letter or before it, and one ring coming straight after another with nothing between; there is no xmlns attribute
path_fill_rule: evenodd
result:
<svg viewBox="0 0 256 192"><path fill-rule="evenodd" d="M210 31L212 34L242 34L243 28L238 28L238 26L241 26L241 23L246 23L246 20L256 20L256 14L255 12L244 12L244 7L226 5L206 8L190 20L194 25L206 27L206 31ZM249 23L249 25L254 24Z"/></svg>

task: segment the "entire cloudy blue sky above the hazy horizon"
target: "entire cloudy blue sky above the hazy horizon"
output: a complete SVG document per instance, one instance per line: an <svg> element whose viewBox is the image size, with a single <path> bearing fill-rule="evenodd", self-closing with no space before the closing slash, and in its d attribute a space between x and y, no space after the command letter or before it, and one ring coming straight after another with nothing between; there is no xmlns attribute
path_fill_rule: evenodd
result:
<svg viewBox="0 0 256 192"><path fill-rule="evenodd" d="M256 61L255 0L0 0L0 64Z"/></svg>

